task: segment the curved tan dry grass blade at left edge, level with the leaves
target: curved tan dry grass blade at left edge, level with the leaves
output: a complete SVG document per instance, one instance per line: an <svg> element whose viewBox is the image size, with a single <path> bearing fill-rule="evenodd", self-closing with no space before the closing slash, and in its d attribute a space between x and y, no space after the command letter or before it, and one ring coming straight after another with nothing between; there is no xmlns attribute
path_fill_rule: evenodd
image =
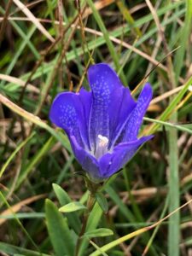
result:
<svg viewBox="0 0 192 256"><path fill-rule="evenodd" d="M32 197L29 197L23 201L20 201L19 203L15 204L14 206L11 207L11 209L7 209L3 212L1 212L1 217L3 216L7 216L7 215L10 215L10 214L13 214L13 212L19 212L20 211L20 208L23 207L23 206L26 206L26 205L29 205L31 204L33 201L38 201L39 199L41 198L44 198L45 195L35 195L35 196L32 196ZM3 223L6 222L6 218L0 218L0 225L2 225Z"/></svg>

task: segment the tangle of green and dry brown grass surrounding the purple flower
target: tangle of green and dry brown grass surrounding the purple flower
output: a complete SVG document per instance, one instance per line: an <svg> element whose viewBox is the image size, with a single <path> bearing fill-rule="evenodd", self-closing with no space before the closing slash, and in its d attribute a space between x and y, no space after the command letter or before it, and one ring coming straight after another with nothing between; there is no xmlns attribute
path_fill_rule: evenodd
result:
<svg viewBox="0 0 192 256"><path fill-rule="evenodd" d="M191 200L191 16L191 0L1 1L2 255L73 255L83 210L57 209L87 192L49 107L62 90L88 89L86 70L102 61L136 97L148 77L154 100L142 133L155 137L105 187L108 213L93 208L79 255L191 255L191 205L126 236ZM99 227L113 236L92 238Z"/></svg>

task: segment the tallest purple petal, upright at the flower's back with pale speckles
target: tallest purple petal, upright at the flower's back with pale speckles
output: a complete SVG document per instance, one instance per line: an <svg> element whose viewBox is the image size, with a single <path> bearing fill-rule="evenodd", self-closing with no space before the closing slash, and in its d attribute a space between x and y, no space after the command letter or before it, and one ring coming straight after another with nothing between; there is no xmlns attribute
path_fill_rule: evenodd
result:
<svg viewBox="0 0 192 256"><path fill-rule="evenodd" d="M127 95L127 105L134 104L128 89L125 90L118 75L107 64L100 63L93 65L88 70L88 80L92 91L92 106L90 112L90 145L96 148L98 135L113 139L115 125L119 122L119 108L122 107L122 99ZM125 109L122 116L129 112ZM125 112L125 113L124 113Z"/></svg>

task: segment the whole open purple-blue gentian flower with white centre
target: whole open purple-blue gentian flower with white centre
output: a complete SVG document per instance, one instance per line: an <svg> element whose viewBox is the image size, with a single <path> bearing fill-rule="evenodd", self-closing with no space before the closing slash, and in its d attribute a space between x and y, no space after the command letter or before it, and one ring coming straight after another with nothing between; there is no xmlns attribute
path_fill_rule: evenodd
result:
<svg viewBox="0 0 192 256"><path fill-rule="evenodd" d="M62 92L49 119L67 133L73 153L91 181L99 183L118 172L153 136L137 138L148 104L150 84L137 102L108 64L90 66L90 91Z"/></svg>

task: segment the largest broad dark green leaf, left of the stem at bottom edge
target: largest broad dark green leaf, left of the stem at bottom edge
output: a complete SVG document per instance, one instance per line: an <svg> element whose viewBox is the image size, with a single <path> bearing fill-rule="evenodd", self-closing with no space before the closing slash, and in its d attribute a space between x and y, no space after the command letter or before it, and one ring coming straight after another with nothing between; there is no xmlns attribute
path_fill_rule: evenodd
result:
<svg viewBox="0 0 192 256"><path fill-rule="evenodd" d="M63 218L61 212L49 199L45 201L45 213L49 238L56 256L73 256L74 244L67 225L67 218Z"/></svg>

